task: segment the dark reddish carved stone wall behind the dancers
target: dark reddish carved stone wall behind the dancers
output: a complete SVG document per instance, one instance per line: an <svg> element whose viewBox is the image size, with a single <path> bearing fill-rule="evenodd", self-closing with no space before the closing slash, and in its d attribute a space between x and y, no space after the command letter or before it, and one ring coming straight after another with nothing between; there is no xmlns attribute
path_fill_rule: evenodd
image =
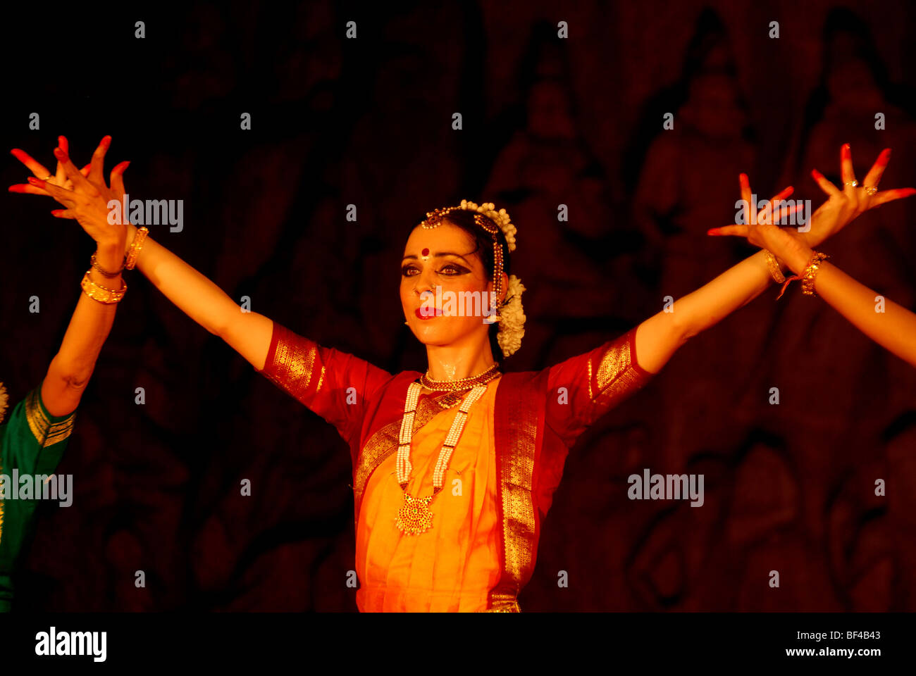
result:
<svg viewBox="0 0 916 676"><path fill-rule="evenodd" d="M542 368L751 254L705 235L733 222L739 171L761 198L791 184L816 207L809 172L839 182L848 142L859 180L892 147L882 188L916 185L913 5L704 7L5 8L0 134L49 167L59 134L78 166L111 134L106 169L132 161L132 197L184 201L183 232L154 229L160 243L253 311L389 371L425 366L398 300L410 228L463 198L496 202L529 289L507 369ZM2 172L6 185L27 176L12 156ZM2 199L0 378L15 401L60 344L93 242L46 198ZM911 309L914 205L821 247ZM60 465L74 504L40 508L19 602L354 610L343 440L146 278L127 283ZM523 609L916 608L916 371L822 300L775 298L692 339L573 448ZM705 505L628 500L644 467L704 474Z"/></svg>

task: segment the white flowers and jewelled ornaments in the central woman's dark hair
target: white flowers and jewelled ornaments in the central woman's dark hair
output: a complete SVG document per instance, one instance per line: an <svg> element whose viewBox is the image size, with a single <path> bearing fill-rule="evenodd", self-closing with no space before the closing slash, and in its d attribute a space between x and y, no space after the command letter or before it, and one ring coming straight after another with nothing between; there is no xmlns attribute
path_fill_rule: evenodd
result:
<svg viewBox="0 0 916 676"><path fill-rule="evenodd" d="M426 214L426 220L420 225L424 228L435 228L442 224L442 218L448 213L457 209L477 212L480 215L474 216L474 223L482 227L493 238L493 293L499 298L503 286L503 247L496 238L496 228L502 231L506 237L506 244L509 252L516 249L515 234L516 226L512 224L512 219L505 209L496 211L496 205L493 202L484 202L478 205L476 202L462 200L460 206L444 207L436 209L434 212ZM496 227L494 227L496 224ZM496 342L503 351L503 356L507 357L514 354L521 347L522 336L525 335L525 313L521 306L521 293L525 290L521 280L515 275L509 276L509 285L506 291L506 300L496 308L495 315L485 318L485 322L499 322L499 333L496 334Z"/></svg>

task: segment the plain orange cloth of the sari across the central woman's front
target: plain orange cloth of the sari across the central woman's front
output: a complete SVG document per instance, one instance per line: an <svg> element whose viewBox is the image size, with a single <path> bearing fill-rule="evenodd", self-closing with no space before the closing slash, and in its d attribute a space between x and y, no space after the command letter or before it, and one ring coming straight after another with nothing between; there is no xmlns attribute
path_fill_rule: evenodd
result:
<svg viewBox="0 0 916 676"><path fill-rule="evenodd" d="M496 529L496 449L493 408L496 380L471 407L464 431L433 499L433 522L420 535L395 525L403 502L392 453L365 485L356 526L356 593L361 611L486 610L487 594L499 580ZM458 407L443 410L411 442L407 491L432 493L432 473Z"/></svg>

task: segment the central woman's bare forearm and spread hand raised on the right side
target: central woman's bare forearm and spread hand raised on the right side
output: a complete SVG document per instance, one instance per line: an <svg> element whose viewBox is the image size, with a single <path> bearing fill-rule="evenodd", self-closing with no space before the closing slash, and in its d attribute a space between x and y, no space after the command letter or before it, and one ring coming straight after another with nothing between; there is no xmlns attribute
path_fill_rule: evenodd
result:
<svg viewBox="0 0 916 676"><path fill-rule="evenodd" d="M866 186L876 186L881 174L888 164L890 151L881 153L875 165L866 178ZM916 194L911 188L897 191L883 191L867 194L866 188L856 187L853 174L852 156L849 146L841 149L841 174L845 182L845 190L839 191L817 171L813 172L814 179L825 191L829 199L812 215L811 228L808 232L791 232L782 230L787 237L799 245L810 248L823 242L824 239L841 230L860 213L878 206L884 202L897 200ZM780 206L778 202L791 194L791 188L780 192L761 211L761 218L752 201L750 186L747 176L741 175L741 195L746 208L746 223L756 224L759 221L772 222L778 220L774 214L785 216L793 208ZM744 225L733 225L725 228L714 228L709 234L733 234L734 228L743 228ZM778 228L779 229L779 228ZM775 253L775 252L774 252ZM777 256L779 256L777 254ZM787 261L780 261L780 267L785 267ZM807 265L807 261L806 261ZM760 251L749 256L735 267L731 267L723 274L714 278L700 289L675 300L673 311L660 311L638 326L636 345L638 363L650 373L657 373L665 365L679 347L686 343L692 336L722 321L731 312L745 306L767 289L773 279L769 272L766 252Z"/></svg>

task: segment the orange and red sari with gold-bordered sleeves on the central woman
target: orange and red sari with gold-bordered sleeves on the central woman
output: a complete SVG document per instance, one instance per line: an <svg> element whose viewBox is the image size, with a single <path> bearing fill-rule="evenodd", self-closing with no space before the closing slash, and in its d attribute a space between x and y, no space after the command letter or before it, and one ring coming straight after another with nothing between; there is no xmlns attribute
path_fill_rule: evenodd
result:
<svg viewBox="0 0 916 676"><path fill-rule="evenodd" d="M474 403L430 530L395 527L403 494L394 470L404 402L418 371L387 371L274 322L264 376L327 420L350 446L357 605L364 611L518 612L543 519L575 440L648 382L636 329L540 371L505 373ZM456 408L421 397L408 492L428 496ZM460 480L455 483L455 480Z"/></svg>

